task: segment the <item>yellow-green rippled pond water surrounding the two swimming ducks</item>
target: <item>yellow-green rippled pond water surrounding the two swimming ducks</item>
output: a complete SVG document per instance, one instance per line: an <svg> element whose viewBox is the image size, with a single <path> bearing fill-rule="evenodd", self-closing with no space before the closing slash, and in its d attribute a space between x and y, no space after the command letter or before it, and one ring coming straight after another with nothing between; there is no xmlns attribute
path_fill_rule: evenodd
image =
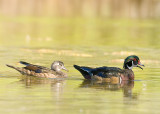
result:
<svg viewBox="0 0 160 114"><path fill-rule="evenodd" d="M160 113L160 23L157 20L0 19L1 113ZM128 84L86 82L73 64L116 66L135 54ZM25 77L5 64L24 60L50 67L61 60L68 79Z"/></svg>

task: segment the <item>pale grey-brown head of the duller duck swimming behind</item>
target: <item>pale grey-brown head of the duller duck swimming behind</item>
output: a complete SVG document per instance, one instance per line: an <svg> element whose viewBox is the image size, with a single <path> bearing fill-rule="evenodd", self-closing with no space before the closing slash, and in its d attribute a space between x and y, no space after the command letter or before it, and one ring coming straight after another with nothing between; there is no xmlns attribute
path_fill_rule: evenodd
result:
<svg viewBox="0 0 160 114"><path fill-rule="evenodd" d="M61 69L68 71L68 70L64 67L64 63L61 62L61 61L54 61L54 62L51 64L51 69L54 70L54 71L60 71Z"/></svg>

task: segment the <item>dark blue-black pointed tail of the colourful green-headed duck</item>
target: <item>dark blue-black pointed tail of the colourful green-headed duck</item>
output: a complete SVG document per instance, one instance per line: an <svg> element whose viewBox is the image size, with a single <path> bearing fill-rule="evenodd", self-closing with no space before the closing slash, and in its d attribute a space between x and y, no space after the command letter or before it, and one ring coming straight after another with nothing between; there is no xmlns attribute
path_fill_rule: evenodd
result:
<svg viewBox="0 0 160 114"><path fill-rule="evenodd" d="M73 67L77 69L85 79L91 79L93 74L91 73L91 69L89 67L81 67L78 65L73 65Z"/></svg>

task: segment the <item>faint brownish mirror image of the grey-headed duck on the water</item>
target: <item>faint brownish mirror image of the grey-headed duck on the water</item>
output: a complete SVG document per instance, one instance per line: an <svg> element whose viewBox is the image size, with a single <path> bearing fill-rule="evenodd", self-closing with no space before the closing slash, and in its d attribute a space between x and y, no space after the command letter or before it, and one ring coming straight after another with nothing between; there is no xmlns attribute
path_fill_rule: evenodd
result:
<svg viewBox="0 0 160 114"><path fill-rule="evenodd" d="M64 87L66 84L65 79L47 79L47 78L37 78L33 76L22 76L19 80L26 89L34 90L32 94L37 94L44 96L44 92L48 93L46 95L51 95L56 101L60 100L64 93Z"/></svg>

